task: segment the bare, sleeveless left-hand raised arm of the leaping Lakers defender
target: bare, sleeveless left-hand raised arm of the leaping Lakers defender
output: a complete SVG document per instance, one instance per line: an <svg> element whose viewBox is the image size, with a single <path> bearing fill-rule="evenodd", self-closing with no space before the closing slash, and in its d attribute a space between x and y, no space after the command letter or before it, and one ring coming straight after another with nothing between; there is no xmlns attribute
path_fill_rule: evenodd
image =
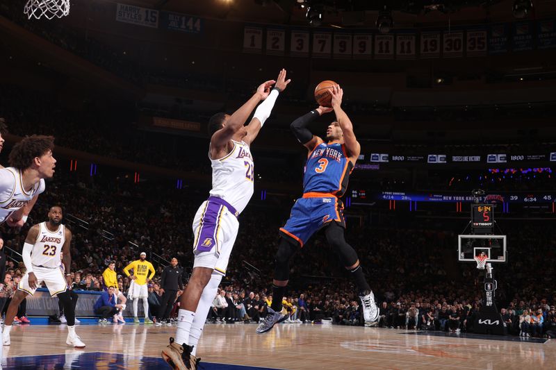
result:
<svg viewBox="0 0 556 370"><path fill-rule="evenodd" d="M266 99L268 94L270 94L270 87L275 84L276 81L270 80L261 83L257 88L255 94L251 96L251 99L245 102L234 114L232 114L226 121L226 125L220 130L216 131L211 137L211 146L215 149L223 148L231 140L231 137L243 127L247 117L255 109L259 101Z"/></svg>

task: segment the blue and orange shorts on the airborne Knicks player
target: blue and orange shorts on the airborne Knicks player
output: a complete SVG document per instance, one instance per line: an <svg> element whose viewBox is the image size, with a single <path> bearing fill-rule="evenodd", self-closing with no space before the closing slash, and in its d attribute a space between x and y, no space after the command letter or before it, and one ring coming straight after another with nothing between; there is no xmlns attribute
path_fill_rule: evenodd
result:
<svg viewBox="0 0 556 370"><path fill-rule="evenodd" d="M290 218L280 228L280 235L303 246L322 226L332 221L345 228L342 202L334 194L305 193L293 205Z"/></svg>

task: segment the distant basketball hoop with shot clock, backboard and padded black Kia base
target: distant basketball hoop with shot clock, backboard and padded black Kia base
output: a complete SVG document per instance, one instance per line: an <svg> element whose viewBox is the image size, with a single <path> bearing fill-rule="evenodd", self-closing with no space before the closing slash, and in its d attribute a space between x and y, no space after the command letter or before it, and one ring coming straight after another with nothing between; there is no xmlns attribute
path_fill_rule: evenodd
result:
<svg viewBox="0 0 556 370"><path fill-rule="evenodd" d="M506 235L494 220L494 204L481 203L483 190L473 190L474 203L471 205L471 221L458 235L458 260L476 262L477 269L484 273L484 296L482 306L473 325L474 333L504 335L505 324L496 308L496 289L492 263L506 262ZM494 230L498 233L494 233Z"/></svg>

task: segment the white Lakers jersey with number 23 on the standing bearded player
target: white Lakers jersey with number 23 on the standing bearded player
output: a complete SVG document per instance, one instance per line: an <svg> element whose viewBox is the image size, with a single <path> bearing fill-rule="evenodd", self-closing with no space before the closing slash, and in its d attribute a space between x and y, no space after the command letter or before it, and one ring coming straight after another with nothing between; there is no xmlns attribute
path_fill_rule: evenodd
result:
<svg viewBox="0 0 556 370"><path fill-rule="evenodd" d="M31 263L33 266L51 269L60 267L62 246L65 242L65 226L60 224L56 231L51 231L46 223L41 222L39 228L39 235L31 251Z"/></svg>

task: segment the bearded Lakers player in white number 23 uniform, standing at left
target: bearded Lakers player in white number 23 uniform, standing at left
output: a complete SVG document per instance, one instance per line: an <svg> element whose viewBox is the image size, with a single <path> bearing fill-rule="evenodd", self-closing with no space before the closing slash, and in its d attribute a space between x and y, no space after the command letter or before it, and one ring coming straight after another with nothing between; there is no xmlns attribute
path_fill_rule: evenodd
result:
<svg viewBox="0 0 556 370"><path fill-rule="evenodd" d="M85 348L85 344L75 333L75 311L70 292L67 290L67 286L72 283L72 232L62 224L62 218L62 208L55 205L48 212L48 221L33 225L29 229L22 251L26 273L17 285L17 292L6 311L2 333L4 346L10 345L10 330L19 304L27 296L32 296L37 287L44 282L50 296L58 296L64 305L68 331L66 344L74 348ZM65 277L60 269L60 259L64 264Z"/></svg>

